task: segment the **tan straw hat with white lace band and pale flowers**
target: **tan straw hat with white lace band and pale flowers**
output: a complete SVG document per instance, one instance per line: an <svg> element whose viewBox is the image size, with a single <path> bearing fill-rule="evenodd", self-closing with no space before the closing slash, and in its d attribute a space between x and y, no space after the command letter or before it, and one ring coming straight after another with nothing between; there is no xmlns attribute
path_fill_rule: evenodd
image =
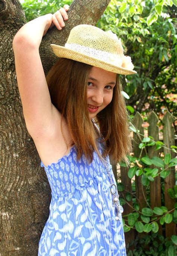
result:
<svg viewBox="0 0 177 256"><path fill-rule="evenodd" d="M61 58L73 59L117 74L136 74L129 56L123 53L121 40L111 31L91 25L72 28L65 46L51 44Z"/></svg>

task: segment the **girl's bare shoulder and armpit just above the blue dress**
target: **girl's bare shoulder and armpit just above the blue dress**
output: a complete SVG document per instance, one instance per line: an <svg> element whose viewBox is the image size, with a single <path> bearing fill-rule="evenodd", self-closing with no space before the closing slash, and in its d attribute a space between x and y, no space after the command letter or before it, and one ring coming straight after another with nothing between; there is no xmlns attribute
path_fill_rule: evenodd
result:
<svg viewBox="0 0 177 256"><path fill-rule="evenodd" d="M56 163L70 151L72 141L66 120L61 117L60 112L53 106L53 123L41 133L32 136L38 154L45 166Z"/></svg>

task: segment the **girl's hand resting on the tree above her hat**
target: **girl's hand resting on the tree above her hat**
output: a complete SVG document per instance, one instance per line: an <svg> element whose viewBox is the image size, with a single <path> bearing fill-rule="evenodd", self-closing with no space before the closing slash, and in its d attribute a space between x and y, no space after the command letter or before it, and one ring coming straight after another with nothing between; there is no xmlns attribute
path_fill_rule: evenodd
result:
<svg viewBox="0 0 177 256"><path fill-rule="evenodd" d="M50 28L54 25L58 28L58 30L62 30L65 27L64 21L68 20L67 12L69 10L69 5L65 4L63 8L60 8L57 12L52 15L52 24Z"/></svg>

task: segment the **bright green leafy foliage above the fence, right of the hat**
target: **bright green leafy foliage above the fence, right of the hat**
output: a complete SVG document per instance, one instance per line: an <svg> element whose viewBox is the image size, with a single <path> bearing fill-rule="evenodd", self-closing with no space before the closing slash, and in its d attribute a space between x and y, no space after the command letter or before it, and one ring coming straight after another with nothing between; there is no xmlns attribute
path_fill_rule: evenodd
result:
<svg viewBox="0 0 177 256"><path fill-rule="evenodd" d="M139 112L146 102L156 113L161 107L174 111L171 94L177 82L176 6L175 0L111 0L97 24L116 33L125 54L133 59L137 74L122 79L130 96L128 104Z"/></svg>

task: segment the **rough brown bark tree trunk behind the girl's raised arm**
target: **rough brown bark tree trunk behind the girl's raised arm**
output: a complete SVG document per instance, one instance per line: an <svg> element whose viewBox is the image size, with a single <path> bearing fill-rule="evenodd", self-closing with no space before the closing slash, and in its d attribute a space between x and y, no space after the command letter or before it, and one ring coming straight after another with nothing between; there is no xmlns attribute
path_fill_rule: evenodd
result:
<svg viewBox="0 0 177 256"><path fill-rule="evenodd" d="M53 28L40 47L47 73L56 57L50 43L63 45L72 27L95 25L109 0L75 0L62 31ZM12 40L26 22L18 0L0 1L0 81L1 81L1 248L0 255L37 255L38 242L49 215L50 187L40 167L34 143L25 127L16 83ZM29 106L30 107L30 106Z"/></svg>

